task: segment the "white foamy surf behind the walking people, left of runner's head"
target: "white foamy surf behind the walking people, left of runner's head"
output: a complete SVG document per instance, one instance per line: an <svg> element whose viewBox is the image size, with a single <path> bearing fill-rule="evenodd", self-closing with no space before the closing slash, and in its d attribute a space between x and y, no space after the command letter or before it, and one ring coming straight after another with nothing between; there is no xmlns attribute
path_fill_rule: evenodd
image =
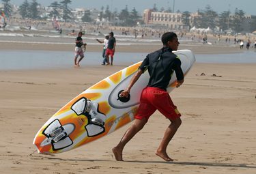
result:
<svg viewBox="0 0 256 174"><path fill-rule="evenodd" d="M1 31L1 29L0 29ZM59 34L56 31L42 31L42 30L34 30L34 31L21 31L19 30L11 30L11 31L1 31L0 32L0 42L31 42L31 43L55 43L55 44L74 44L74 39L76 35L67 35L67 34ZM120 35L118 33L115 34L115 38L119 44L137 44L137 42L141 44L158 44L160 43L160 38L152 37L152 38L134 38L134 35ZM99 44L96 42L96 39L104 39L104 35L100 33L86 33L83 35L83 40L87 42L87 44ZM99 44L100 45L100 44Z"/></svg>

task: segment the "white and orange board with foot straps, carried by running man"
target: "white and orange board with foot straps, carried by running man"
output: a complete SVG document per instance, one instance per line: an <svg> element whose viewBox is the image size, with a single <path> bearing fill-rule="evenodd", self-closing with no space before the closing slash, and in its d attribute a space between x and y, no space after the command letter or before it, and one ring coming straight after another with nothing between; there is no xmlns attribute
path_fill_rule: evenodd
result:
<svg viewBox="0 0 256 174"><path fill-rule="evenodd" d="M173 53L182 61L186 75L195 62L195 56L190 50ZM33 144L38 153L57 154L80 147L132 121L139 107L141 91L150 78L148 72L134 84L128 101L119 98L119 93L126 89L141 62L104 78L57 111L35 135ZM174 72L167 91L175 88L176 80Z"/></svg>

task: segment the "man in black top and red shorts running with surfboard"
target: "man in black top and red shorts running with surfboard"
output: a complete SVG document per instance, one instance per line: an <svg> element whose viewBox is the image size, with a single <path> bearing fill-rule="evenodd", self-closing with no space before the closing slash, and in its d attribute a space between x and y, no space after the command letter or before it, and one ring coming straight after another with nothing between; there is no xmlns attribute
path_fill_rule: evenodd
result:
<svg viewBox="0 0 256 174"><path fill-rule="evenodd" d="M165 115L171 124L165 131L155 154L160 156L163 160L173 161L167 154L167 145L182 124L182 120L180 119L181 115L179 111L177 111L177 107L173 104L167 92L167 87L174 71L177 76L176 87L180 87L184 82L184 74L182 72L180 59L178 59L177 55L172 53L173 50L177 50L180 44L177 35L173 32L164 33L162 35L162 44L163 47L160 50L156 50L154 53L147 55L141 63L141 66L139 66L137 73L132 77L127 89L121 93L121 97L127 97L134 83L136 83L141 74L148 69L150 81L147 87L141 92L139 109L137 115L134 116L135 121L125 132L117 146L112 149L117 161L123 160L122 153L126 143L145 126L147 120L156 110L160 111L162 115Z"/></svg>

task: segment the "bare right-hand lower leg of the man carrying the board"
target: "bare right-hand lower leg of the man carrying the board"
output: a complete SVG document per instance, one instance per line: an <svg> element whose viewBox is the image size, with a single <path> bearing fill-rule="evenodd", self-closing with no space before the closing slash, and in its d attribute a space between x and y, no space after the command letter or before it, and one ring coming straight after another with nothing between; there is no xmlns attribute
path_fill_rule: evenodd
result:
<svg viewBox="0 0 256 174"><path fill-rule="evenodd" d="M167 155L167 146L171 139L173 138L174 134L177 132L177 129L182 124L182 120L180 117L176 118L174 121L169 119L171 121L171 124L168 126L167 130L165 130L164 137L162 138L162 141L156 150L156 155L160 156L162 159L166 161L173 161L168 155Z"/></svg>

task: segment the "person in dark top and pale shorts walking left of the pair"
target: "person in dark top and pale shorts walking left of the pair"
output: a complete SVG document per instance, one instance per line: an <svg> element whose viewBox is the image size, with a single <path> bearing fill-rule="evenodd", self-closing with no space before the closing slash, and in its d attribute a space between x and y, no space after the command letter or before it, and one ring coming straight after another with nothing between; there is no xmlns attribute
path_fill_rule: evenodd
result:
<svg viewBox="0 0 256 174"><path fill-rule="evenodd" d="M83 43L82 39L83 33L80 31L78 36L76 37L76 47L74 48L75 54L74 54L74 66L79 67L80 66L80 61L85 57L83 54L83 48L82 46L86 46L86 44ZM80 56L79 61L77 61L77 58Z"/></svg>

